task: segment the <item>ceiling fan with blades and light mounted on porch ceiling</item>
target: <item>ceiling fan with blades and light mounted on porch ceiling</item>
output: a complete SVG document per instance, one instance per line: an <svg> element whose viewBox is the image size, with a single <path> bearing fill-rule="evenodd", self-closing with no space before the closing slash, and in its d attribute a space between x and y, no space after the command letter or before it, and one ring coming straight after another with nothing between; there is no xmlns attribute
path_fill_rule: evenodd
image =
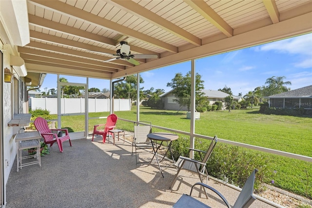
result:
<svg viewBox="0 0 312 208"><path fill-rule="evenodd" d="M155 54L131 54L130 45L128 45L128 42L122 41L120 42L120 45L121 47L120 49L116 51L116 54L104 53L104 54L108 54L111 56L115 56L115 58L106 60L104 62L111 62L117 59L123 59L134 65L139 65L140 63L134 58L136 59L157 59L158 58L158 56ZM100 52L100 53L103 53L103 52Z"/></svg>

